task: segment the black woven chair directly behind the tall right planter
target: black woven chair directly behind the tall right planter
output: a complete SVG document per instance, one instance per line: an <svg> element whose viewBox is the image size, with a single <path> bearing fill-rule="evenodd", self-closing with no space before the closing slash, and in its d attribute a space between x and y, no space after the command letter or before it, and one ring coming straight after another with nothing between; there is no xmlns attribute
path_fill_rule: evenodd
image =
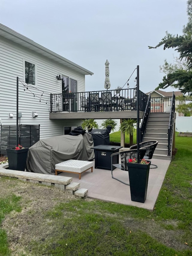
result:
<svg viewBox="0 0 192 256"><path fill-rule="evenodd" d="M146 153L146 149L140 149L140 155L139 155L139 159L143 159L144 155ZM121 163L120 164L113 164L113 158L117 158L120 156L121 159ZM122 151L122 152L117 152L111 155L111 176L113 179L116 179L120 182L122 182L125 185L129 185L129 183L126 183L123 180L117 179L113 176L113 168L116 167L118 169L121 169L123 171L128 171L128 167L127 167L127 162L129 161L129 159L138 159L137 157L137 149L132 149L132 150L126 150L126 151Z"/></svg>

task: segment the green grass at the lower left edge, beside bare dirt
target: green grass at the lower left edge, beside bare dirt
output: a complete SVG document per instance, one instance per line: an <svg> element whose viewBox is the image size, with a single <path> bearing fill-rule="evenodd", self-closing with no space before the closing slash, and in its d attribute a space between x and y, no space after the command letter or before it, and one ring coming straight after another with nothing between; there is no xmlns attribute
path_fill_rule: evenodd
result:
<svg viewBox="0 0 192 256"><path fill-rule="evenodd" d="M11 195L10 197L0 198L0 224L3 221L6 214L15 210L19 212L21 210L20 206L18 206L18 202L20 197L15 195ZM7 234L6 232L0 228L0 255L10 255L10 249L8 248L7 243Z"/></svg>

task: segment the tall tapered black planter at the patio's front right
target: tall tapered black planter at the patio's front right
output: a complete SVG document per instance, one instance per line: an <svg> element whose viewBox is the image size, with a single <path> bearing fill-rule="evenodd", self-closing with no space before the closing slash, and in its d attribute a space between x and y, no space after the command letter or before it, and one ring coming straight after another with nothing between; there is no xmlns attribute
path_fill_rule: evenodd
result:
<svg viewBox="0 0 192 256"><path fill-rule="evenodd" d="M151 161L149 161L149 164L127 163L131 201L145 203L150 165Z"/></svg>

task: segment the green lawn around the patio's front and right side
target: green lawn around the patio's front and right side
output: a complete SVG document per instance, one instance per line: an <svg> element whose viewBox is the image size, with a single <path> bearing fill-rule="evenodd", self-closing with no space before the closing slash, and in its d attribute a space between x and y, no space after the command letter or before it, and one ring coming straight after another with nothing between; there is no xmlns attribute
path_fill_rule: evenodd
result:
<svg viewBox="0 0 192 256"><path fill-rule="evenodd" d="M192 138L177 135L178 150L153 212L99 200L60 202L44 212L52 234L43 241L32 237L20 255L192 255ZM1 212L2 217L9 212ZM6 234L0 237L4 246ZM4 253L2 246L0 255L16 255L8 254L8 247Z"/></svg>

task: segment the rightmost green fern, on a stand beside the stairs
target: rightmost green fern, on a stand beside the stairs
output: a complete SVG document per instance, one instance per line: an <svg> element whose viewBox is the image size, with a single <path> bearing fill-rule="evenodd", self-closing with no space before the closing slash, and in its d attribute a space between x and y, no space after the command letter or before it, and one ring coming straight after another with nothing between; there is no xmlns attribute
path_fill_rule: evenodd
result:
<svg viewBox="0 0 192 256"><path fill-rule="evenodd" d="M124 134L129 134L129 145L133 145L133 134L135 131L134 123L136 123L137 120L135 119L123 119L122 123L119 126L119 131L122 131Z"/></svg>

